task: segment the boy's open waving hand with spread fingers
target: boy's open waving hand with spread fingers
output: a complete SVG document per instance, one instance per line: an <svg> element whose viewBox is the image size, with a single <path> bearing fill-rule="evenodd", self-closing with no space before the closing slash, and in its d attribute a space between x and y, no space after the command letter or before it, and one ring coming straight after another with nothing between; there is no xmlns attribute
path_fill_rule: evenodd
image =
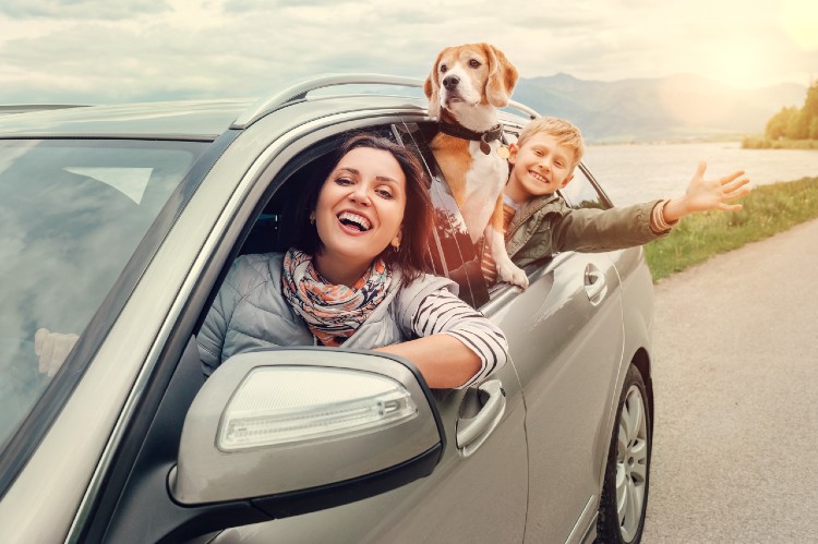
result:
<svg viewBox="0 0 818 544"><path fill-rule="evenodd" d="M664 219L674 222L682 217L696 211L709 209L721 209L723 211L736 211L742 209L741 204L729 204L750 192L746 186L749 179L743 178L744 170L738 170L718 180L706 180L705 170L707 162L699 162L696 173L687 185L685 195L673 198L664 206Z"/></svg>

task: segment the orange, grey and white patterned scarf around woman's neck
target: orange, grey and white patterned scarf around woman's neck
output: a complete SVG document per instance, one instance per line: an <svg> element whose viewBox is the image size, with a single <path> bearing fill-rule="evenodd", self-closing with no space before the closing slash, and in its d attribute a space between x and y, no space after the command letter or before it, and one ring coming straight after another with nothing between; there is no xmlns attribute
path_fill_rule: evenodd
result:
<svg viewBox="0 0 818 544"><path fill-rule="evenodd" d="M281 290L290 306L324 346L340 346L384 300L392 274L375 261L354 286L335 286L318 275L312 256L290 247L284 256Z"/></svg>

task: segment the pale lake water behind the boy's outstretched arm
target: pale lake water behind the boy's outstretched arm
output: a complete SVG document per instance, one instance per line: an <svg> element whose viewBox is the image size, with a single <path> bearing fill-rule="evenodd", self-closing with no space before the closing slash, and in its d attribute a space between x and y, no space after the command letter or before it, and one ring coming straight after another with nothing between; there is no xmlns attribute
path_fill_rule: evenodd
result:
<svg viewBox="0 0 818 544"><path fill-rule="evenodd" d="M699 160L705 177L745 170L751 185L818 177L818 150L742 149L738 142L588 146L582 161L616 205L684 194Z"/></svg>

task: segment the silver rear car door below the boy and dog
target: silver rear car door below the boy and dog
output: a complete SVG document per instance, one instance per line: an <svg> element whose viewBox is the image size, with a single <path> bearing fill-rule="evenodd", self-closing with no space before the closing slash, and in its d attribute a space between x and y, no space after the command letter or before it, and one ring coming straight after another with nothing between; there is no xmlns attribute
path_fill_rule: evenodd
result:
<svg viewBox="0 0 818 544"><path fill-rule="evenodd" d="M579 169L568 188L575 207L609 206ZM505 304L500 323L526 399L526 541L579 542L596 519L622 364L619 276L606 253L565 252L527 271L525 292L503 287L484 306Z"/></svg>

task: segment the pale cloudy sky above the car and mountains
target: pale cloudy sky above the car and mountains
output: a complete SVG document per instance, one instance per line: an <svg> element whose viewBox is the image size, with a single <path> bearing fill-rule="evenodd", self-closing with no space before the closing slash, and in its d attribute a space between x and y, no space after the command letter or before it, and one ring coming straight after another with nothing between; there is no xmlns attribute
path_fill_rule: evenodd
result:
<svg viewBox="0 0 818 544"><path fill-rule="evenodd" d="M485 41L521 77L818 77L817 0L2 0L0 105L258 97L320 73L423 78Z"/></svg>

